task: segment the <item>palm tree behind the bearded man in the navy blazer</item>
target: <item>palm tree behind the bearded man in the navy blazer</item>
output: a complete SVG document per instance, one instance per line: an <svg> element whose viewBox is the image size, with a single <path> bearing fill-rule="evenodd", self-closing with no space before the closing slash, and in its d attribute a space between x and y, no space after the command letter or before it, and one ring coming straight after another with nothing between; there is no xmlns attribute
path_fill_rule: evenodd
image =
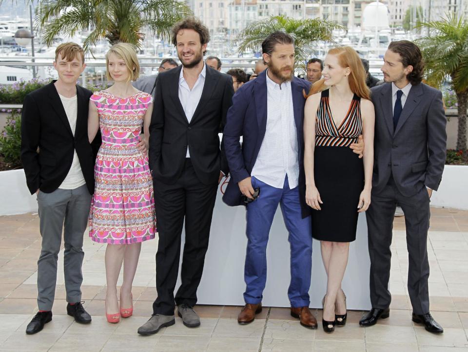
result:
<svg viewBox="0 0 468 352"><path fill-rule="evenodd" d="M295 65L304 67L304 62L314 53L318 41L332 41L333 29L343 26L324 19L291 19L284 15L272 16L253 22L244 28L235 38L240 54L247 50L259 50L262 41L272 32L282 31L294 38Z"/></svg>

